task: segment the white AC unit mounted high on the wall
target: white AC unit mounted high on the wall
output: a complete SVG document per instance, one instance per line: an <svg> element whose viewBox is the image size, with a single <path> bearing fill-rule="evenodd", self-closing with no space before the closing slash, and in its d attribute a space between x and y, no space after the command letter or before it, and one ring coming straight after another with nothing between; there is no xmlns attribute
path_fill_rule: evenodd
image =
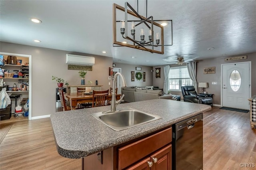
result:
<svg viewBox="0 0 256 170"><path fill-rule="evenodd" d="M66 63L73 65L94 65L94 57L83 55L66 54Z"/></svg>

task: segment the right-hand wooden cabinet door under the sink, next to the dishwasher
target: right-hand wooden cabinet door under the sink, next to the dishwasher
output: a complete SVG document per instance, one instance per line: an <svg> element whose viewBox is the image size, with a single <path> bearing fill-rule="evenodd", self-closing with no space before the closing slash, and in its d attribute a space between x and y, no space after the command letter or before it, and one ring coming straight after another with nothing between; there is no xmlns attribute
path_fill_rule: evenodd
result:
<svg viewBox="0 0 256 170"><path fill-rule="evenodd" d="M152 156L150 156L153 165L151 170L171 170L172 169L172 145L169 144ZM157 159L157 160L156 160Z"/></svg>

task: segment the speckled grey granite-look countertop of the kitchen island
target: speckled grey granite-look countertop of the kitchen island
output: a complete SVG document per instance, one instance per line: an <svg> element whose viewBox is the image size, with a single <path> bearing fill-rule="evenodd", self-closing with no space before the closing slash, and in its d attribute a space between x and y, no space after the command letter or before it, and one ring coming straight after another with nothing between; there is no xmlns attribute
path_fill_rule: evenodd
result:
<svg viewBox="0 0 256 170"><path fill-rule="evenodd" d="M208 105L167 99L117 106L117 109L126 108L159 115L162 119L115 131L91 116L92 113L110 110L110 106L53 113L50 118L58 153L66 158L83 158L211 109Z"/></svg>

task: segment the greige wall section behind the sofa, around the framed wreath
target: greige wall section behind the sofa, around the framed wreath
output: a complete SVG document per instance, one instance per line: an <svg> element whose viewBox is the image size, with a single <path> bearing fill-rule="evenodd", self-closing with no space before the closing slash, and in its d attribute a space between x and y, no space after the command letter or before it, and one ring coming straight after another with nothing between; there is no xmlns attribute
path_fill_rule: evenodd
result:
<svg viewBox="0 0 256 170"><path fill-rule="evenodd" d="M115 63L116 68L122 68L122 74L126 80L127 86L151 86L153 85L152 75L151 72L152 67L143 66L143 65L131 65L131 64L122 64L122 63ZM131 81L131 71L136 71L136 67L141 67L142 72L146 72L146 81Z"/></svg>

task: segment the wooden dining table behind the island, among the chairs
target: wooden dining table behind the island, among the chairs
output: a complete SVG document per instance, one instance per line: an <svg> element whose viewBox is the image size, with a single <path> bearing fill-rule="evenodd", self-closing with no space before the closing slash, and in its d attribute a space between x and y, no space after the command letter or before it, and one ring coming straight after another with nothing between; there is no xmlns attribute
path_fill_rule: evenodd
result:
<svg viewBox="0 0 256 170"><path fill-rule="evenodd" d="M92 103L92 94L85 93L66 93L64 94L65 100L70 102L72 110L76 109L78 103ZM121 94L116 94L116 100L119 100ZM108 101L111 101L112 93L108 93Z"/></svg>

